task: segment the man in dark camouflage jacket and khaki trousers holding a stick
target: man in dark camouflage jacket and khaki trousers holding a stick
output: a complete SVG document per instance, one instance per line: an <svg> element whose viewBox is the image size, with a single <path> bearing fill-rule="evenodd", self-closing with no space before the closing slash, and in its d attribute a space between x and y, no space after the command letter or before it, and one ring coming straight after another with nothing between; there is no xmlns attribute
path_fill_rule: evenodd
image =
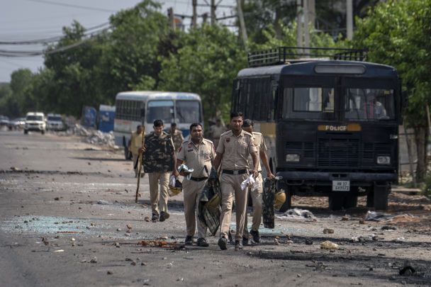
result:
<svg viewBox="0 0 431 287"><path fill-rule="evenodd" d="M178 171L174 169L177 161L174 142L172 142L171 136L163 131L163 121L155 120L153 128L154 132L145 136L145 145L141 152L144 152L142 164L144 171L148 174L148 181L150 181L151 220L156 222L169 218L169 213L167 213L169 174L172 171L174 175L178 176Z"/></svg>

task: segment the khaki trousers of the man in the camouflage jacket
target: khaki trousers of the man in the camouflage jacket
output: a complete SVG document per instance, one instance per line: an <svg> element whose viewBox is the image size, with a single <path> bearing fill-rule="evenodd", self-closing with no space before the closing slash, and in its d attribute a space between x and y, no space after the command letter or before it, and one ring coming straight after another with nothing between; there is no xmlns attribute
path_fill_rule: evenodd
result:
<svg viewBox="0 0 431 287"><path fill-rule="evenodd" d="M167 186L169 184L168 172L151 172L148 174L148 181L150 181L150 200L152 213L159 216L160 212L167 213ZM159 192L160 183L160 192Z"/></svg>

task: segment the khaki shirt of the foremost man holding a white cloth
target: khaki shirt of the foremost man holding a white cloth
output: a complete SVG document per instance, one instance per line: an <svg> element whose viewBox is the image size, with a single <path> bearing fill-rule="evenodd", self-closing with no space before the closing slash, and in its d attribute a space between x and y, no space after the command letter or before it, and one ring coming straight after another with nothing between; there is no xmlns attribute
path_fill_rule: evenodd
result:
<svg viewBox="0 0 431 287"><path fill-rule="evenodd" d="M241 130L240 135L235 136L232 130L223 133L218 142L217 152L223 154L222 169L253 169L249 167L248 157L252 152L257 152L252 135Z"/></svg>

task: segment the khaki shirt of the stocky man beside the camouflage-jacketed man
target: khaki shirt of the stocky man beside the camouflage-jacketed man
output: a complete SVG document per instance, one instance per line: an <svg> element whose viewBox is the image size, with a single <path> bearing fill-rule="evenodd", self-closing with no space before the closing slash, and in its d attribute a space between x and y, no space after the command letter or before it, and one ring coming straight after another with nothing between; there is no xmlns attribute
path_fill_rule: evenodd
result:
<svg viewBox="0 0 431 287"><path fill-rule="evenodd" d="M190 169L194 169L191 176L197 178L209 176L213 167L211 161L215 159L213 142L203 139L196 146L191 140L185 140L179 148L177 159L181 159Z"/></svg>

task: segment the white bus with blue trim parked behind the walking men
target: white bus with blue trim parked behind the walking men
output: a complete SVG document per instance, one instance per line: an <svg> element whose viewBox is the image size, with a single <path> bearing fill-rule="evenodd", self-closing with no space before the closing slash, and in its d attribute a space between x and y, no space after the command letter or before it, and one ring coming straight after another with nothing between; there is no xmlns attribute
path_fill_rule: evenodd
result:
<svg viewBox="0 0 431 287"><path fill-rule="evenodd" d="M163 120L169 129L171 123L184 137L189 135L191 123L203 125L201 97L198 94L172 91L122 91L116 96L114 135L116 145L125 147L128 158L128 140L136 126L143 125L145 133L152 132L155 120Z"/></svg>

